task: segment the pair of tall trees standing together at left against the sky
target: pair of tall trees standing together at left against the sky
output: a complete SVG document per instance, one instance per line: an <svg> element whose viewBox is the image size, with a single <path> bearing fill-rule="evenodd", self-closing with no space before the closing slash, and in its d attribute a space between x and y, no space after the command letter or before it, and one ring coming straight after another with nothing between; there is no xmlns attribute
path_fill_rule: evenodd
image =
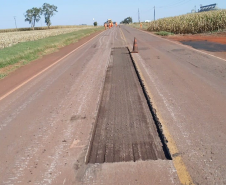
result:
<svg viewBox="0 0 226 185"><path fill-rule="evenodd" d="M31 9L28 9L24 15L25 21L29 22L34 30L35 23L40 21L41 15L44 15L45 23L49 28L51 25L50 19L55 12L58 12L57 6L44 3L41 8L33 7Z"/></svg>

